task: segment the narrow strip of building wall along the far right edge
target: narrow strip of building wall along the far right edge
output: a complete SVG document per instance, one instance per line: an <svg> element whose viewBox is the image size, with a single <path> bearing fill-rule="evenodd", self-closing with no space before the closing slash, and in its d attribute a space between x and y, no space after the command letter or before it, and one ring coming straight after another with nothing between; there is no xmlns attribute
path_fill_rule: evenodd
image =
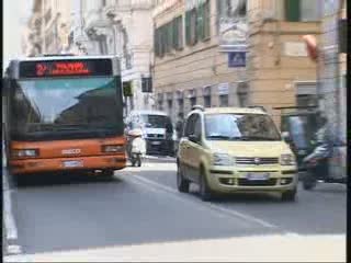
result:
<svg viewBox="0 0 351 263"><path fill-rule="evenodd" d="M319 43L319 105L328 118L336 144L330 172L347 173L347 1L325 0ZM339 146L338 146L339 145Z"/></svg>

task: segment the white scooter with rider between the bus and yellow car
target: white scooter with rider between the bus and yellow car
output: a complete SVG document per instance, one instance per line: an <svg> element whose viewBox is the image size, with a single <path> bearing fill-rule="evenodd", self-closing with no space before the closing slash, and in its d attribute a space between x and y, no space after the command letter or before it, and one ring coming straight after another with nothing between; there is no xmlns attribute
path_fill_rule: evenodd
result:
<svg viewBox="0 0 351 263"><path fill-rule="evenodd" d="M141 167L141 160L146 153L146 141L140 129L128 132L127 153L133 167Z"/></svg>

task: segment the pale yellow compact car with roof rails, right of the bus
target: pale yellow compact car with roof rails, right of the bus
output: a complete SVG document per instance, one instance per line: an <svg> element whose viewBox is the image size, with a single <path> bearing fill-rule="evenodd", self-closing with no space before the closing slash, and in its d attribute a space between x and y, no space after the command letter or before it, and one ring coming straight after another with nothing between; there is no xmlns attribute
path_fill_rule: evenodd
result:
<svg viewBox="0 0 351 263"><path fill-rule="evenodd" d="M295 201L297 167L288 145L261 108L195 106L186 116L177 156L177 184L200 196L215 193L279 192Z"/></svg>

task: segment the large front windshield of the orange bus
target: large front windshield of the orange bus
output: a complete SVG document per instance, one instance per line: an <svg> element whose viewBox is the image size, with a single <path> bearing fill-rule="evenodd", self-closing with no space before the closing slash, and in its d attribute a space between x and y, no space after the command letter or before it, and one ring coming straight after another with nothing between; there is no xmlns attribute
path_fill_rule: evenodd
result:
<svg viewBox="0 0 351 263"><path fill-rule="evenodd" d="M112 77L19 80L11 89L11 134L14 139L122 135L116 83Z"/></svg>

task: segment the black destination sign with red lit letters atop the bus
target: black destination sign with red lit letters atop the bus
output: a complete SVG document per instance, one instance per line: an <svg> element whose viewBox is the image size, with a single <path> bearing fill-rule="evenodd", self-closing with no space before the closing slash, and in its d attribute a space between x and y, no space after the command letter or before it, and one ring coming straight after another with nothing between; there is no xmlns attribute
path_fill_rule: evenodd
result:
<svg viewBox="0 0 351 263"><path fill-rule="evenodd" d="M20 65L20 78L111 75L111 59L22 61Z"/></svg>

